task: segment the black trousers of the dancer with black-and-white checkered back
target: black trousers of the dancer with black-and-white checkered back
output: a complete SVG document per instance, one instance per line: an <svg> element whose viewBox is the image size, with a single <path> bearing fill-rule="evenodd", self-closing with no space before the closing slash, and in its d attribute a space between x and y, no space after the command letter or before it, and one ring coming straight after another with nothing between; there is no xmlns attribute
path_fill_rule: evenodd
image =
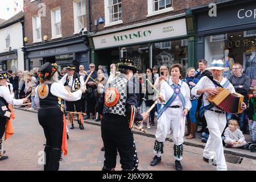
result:
<svg viewBox="0 0 256 182"><path fill-rule="evenodd" d="M101 120L101 137L105 148L104 166L115 168L118 150L122 169L134 168L135 143L125 117L104 114Z"/></svg>

